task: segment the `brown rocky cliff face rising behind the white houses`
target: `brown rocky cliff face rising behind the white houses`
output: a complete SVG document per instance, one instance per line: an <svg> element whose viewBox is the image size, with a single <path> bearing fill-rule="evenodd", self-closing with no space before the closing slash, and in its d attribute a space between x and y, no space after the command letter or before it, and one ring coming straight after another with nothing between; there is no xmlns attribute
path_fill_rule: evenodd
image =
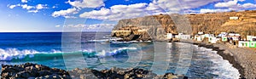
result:
<svg viewBox="0 0 256 79"><path fill-rule="evenodd" d="M238 17L238 20L230 20ZM237 32L242 37L256 35L256 11L225 12L213 14L160 14L136 19L119 20L113 31L127 26L137 26L147 30L137 40L152 38L165 39L166 33L178 32L194 35L198 31L218 34L220 32ZM114 34L114 32L113 32Z"/></svg>

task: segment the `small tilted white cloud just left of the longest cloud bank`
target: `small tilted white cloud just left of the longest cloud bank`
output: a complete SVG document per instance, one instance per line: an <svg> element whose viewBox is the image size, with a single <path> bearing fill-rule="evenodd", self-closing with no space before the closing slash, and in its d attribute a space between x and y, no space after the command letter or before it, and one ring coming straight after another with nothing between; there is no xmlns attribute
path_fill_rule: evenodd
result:
<svg viewBox="0 0 256 79"><path fill-rule="evenodd" d="M68 16L69 14L77 14L79 9L77 8L68 8L67 10L60 10L60 11L55 11L52 16L53 17L58 17L58 16Z"/></svg>

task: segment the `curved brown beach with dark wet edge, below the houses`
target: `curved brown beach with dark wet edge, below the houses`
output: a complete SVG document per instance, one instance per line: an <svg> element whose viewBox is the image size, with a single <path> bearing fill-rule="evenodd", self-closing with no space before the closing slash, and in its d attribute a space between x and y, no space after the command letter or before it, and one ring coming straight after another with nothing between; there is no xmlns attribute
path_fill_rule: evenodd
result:
<svg viewBox="0 0 256 79"><path fill-rule="evenodd" d="M229 60L236 69L239 70L241 78L254 79L256 78L256 51L253 48L237 48L229 43L206 43L195 42L193 40L182 40L181 42L188 42L196 44L200 47L212 48L218 51L224 59Z"/></svg>

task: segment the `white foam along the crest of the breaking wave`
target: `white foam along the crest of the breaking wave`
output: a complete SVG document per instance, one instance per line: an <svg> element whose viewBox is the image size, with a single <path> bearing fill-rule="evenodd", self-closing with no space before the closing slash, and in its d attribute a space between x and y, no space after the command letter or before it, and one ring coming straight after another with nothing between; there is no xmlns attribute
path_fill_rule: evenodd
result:
<svg viewBox="0 0 256 79"><path fill-rule="evenodd" d="M83 54L93 54L96 53L95 56L111 56L115 54L122 53L125 50L136 50L137 48L117 48L113 49L112 51L105 51L102 50L102 52L96 53L95 50L82 50ZM59 50L52 49L50 52L38 52L36 50L30 50L30 49L24 49L24 50L18 50L17 48L8 48L8 49L2 49L0 48L0 61L10 61L12 59L25 59L26 57L33 58L36 54L62 54L63 52ZM79 53L73 52L73 53ZM71 53L68 53L71 54ZM61 55L58 55L61 56Z"/></svg>

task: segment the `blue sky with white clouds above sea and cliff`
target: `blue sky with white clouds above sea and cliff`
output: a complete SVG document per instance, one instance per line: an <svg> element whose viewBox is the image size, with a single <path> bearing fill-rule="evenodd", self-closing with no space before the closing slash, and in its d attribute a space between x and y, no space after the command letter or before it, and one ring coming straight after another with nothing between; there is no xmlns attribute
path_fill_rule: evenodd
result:
<svg viewBox="0 0 256 79"><path fill-rule="evenodd" d="M0 0L0 32L111 31L146 15L255 8L256 0Z"/></svg>

